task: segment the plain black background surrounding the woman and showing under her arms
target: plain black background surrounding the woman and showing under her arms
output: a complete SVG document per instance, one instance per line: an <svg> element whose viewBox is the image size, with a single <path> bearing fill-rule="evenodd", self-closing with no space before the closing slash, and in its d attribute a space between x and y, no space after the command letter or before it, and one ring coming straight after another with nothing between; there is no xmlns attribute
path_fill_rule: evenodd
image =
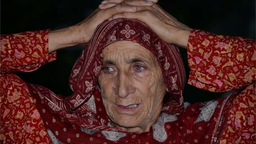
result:
<svg viewBox="0 0 256 144"><path fill-rule="evenodd" d="M1 34L29 30L61 29L81 22L100 4L94 1L17 0L1 1ZM255 0L159 0L158 4L181 23L193 29L215 34L243 36L255 40ZM17 73L26 82L40 84L56 94L73 94L68 85L72 66L84 46L57 51L57 60L30 73ZM186 49L180 48L188 77ZM231 92L213 93L186 84L184 100L205 102L225 97Z"/></svg>

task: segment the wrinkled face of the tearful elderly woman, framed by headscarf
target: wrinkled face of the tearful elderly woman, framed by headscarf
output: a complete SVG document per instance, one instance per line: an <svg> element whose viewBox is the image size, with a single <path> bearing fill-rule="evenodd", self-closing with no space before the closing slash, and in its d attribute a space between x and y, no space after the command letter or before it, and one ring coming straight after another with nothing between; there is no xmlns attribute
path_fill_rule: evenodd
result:
<svg viewBox="0 0 256 144"><path fill-rule="evenodd" d="M156 122L166 85L156 57L145 47L124 40L105 47L99 84L112 125L144 132Z"/></svg>

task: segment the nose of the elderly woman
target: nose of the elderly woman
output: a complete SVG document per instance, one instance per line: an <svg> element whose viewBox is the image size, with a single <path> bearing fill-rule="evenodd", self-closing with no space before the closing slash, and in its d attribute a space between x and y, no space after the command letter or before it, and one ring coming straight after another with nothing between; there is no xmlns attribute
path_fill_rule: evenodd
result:
<svg viewBox="0 0 256 144"><path fill-rule="evenodd" d="M115 87L115 94L120 98L126 98L127 95L135 93L135 88L131 85L131 79L126 72L119 72Z"/></svg>

